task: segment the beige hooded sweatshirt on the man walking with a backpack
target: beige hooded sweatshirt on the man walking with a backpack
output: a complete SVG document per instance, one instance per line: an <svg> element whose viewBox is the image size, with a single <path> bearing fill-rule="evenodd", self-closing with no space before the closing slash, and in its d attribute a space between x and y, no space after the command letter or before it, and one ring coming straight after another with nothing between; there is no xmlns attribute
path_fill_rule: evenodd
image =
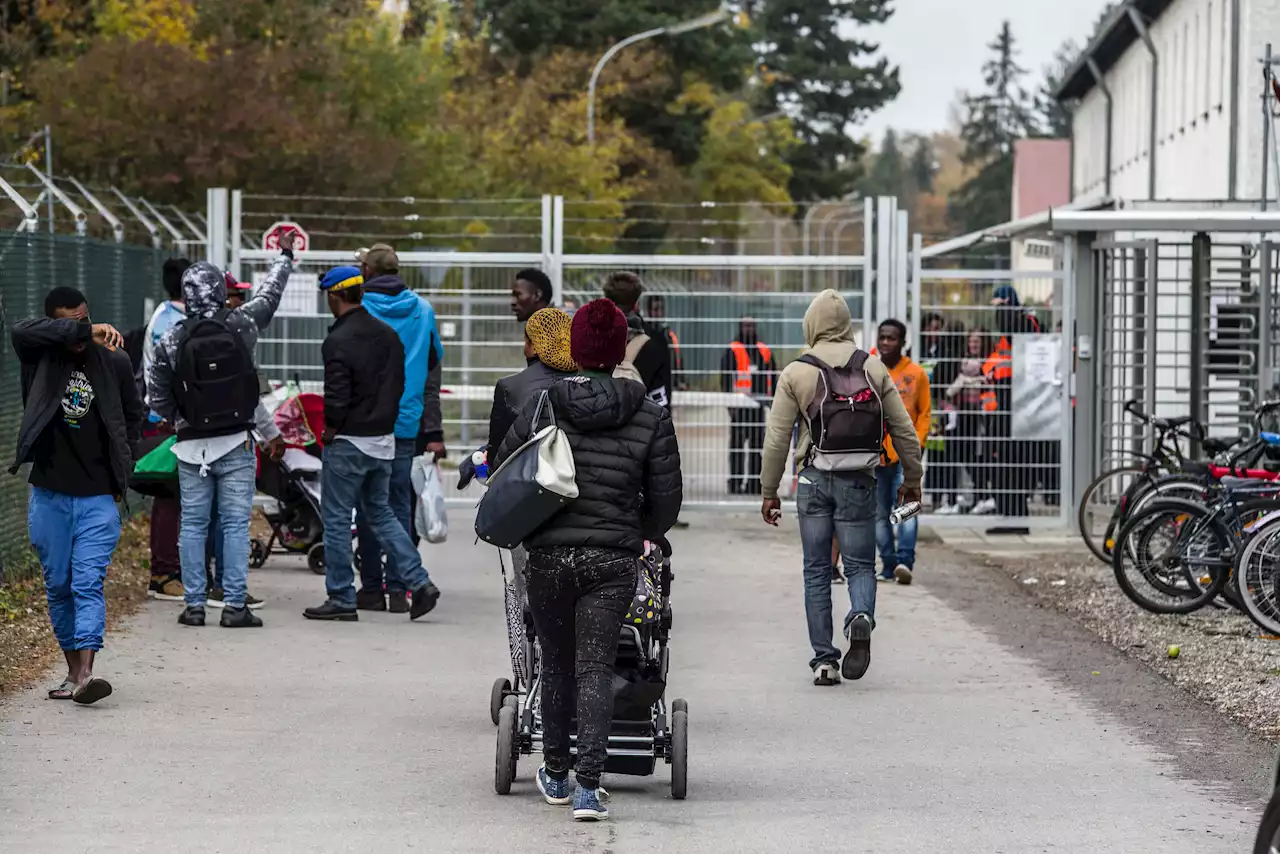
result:
<svg viewBox="0 0 1280 854"><path fill-rule="evenodd" d="M854 320L849 314L849 303L836 291L823 291L809 303L804 312L804 339L812 353L831 366L849 362L854 355ZM902 449L902 483L908 488L919 489L924 476L920 463L920 440L915 425L902 406L897 385L890 376L884 364L876 356L867 360L867 378L881 397L888 434ZM765 498L778 497L778 483L787 465L787 449L791 447L791 433L800 424L800 437L796 442L796 460L809 456L813 439L809 435L809 423L804 414L813 403L822 382L822 371L813 365L795 361L786 366L778 379L778 389L769 411L769 423L764 434L764 462L760 472L760 485ZM873 474L868 469L868 474Z"/></svg>

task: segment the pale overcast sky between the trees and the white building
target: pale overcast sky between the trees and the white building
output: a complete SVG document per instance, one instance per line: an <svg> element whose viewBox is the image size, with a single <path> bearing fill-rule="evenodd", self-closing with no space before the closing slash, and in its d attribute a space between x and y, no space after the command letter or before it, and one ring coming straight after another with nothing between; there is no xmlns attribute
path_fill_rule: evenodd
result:
<svg viewBox="0 0 1280 854"><path fill-rule="evenodd" d="M886 128L943 131L961 90L982 86L987 45L1012 24L1019 64L1038 82L1066 38L1084 42L1106 0L896 0L887 24L865 28L901 69L902 92L855 133L878 140ZM1030 86L1030 85L1029 85Z"/></svg>

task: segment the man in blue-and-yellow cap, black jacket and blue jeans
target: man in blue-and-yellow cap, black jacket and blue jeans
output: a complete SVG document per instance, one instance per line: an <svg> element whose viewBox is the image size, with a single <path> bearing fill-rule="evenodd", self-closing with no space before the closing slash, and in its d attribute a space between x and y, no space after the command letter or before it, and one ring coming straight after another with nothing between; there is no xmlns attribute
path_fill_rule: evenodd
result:
<svg viewBox="0 0 1280 854"><path fill-rule="evenodd" d="M320 288L337 323L320 347L324 357L324 604L303 612L308 620L358 620L352 571L351 515L358 506L413 592L410 618L417 620L440 598L422 558L388 498L396 458L396 420L404 393L404 346L399 335L361 305L364 278L353 266L325 274Z"/></svg>

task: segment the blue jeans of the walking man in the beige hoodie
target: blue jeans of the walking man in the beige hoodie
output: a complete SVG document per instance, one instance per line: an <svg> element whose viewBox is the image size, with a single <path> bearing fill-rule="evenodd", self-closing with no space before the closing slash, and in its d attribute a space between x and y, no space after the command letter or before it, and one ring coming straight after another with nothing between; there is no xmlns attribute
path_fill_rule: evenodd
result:
<svg viewBox="0 0 1280 854"><path fill-rule="evenodd" d="M804 611L809 622L813 659L809 667L838 662L831 643L831 540L840 543L849 584L849 613L876 621L876 483L858 471L800 472L796 490L800 544L804 547Z"/></svg>

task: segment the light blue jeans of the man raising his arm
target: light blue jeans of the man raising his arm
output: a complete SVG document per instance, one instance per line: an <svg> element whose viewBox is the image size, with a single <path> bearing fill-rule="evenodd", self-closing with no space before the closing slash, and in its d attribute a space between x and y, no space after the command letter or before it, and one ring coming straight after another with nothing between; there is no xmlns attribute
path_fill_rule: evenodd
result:
<svg viewBox="0 0 1280 854"><path fill-rule="evenodd" d="M188 607L204 608L209 598L205 557L215 501L218 530L214 535L221 540L223 602L228 608L244 607L244 589L248 584L248 520L253 512L256 471L257 458L247 440L215 460L204 476L200 466L178 461L178 484L182 489L178 552L182 556L183 598Z"/></svg>

